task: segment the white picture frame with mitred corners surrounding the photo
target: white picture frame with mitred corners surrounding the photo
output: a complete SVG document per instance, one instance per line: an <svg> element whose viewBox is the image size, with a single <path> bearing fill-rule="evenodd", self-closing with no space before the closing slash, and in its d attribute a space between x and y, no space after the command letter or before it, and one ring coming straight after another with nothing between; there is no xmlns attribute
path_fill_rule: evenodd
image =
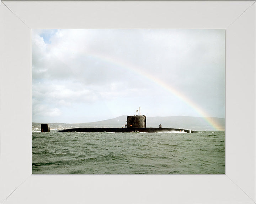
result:
<svg viewBox="0 0 256 204"><path fill-rule="evenodd" d="M224 175L32 175L31 29L226 30ZM255 1L2 1L0 203L256 202Z"/></svg>

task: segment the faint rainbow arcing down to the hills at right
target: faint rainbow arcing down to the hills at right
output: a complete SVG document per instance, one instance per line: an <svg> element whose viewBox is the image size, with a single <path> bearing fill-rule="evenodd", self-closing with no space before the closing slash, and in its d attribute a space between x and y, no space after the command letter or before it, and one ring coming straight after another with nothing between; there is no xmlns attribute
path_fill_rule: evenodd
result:
<svg viewBox="0 0 256 204"><path fill-rule="evenodd" d="M207 123L214 128L214 130L221 130L220 125L216 123L212 118L210 118L206 111L204 111L201 107L198 106L194 101L192 101L190 98L188 98L185 94L183 94L180 90L178 90L176 87L172 87L169 84L164 83L164 81L156 78L154 75L151 75L149 73L144 72L139 66L135 66L134 64L122 61L117 58L113 58L111 56L107 55L101 55L100 53L90 53L87 54L87 56L97 58L98 60L106 61L108 63L115 64L121 68L128 69L129 71L134 72L135 74L139 74L142 77L153 81L163 89L171 92L174 96L176 96L179 100L185 102L188 106L190 106L194 111L196 111L201 117L204 118L204 120L207 121Z"/></svg>

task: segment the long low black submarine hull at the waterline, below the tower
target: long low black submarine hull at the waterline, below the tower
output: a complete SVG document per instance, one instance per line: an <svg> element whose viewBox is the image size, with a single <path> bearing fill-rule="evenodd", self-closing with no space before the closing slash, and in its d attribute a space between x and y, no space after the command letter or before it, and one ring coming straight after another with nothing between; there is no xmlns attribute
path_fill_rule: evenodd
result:
<svg viewBox="0 0 256 204"><path fill-rule="evenodd" d="M196 132L178 128L71 128L57 132Z"/></svg>

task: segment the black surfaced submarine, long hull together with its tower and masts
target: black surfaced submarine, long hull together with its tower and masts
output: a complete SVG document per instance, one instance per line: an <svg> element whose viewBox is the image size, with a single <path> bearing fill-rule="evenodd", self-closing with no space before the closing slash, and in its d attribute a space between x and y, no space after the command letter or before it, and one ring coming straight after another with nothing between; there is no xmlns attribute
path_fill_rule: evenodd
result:
<svg viewBox="0 0 256 204"><path fill-rule="evenodd" d="M42 129L43 131L43 129ZM125 128L70 128L59 130L57 132L196 132L194 130L185 130L179 128L147 128L146 115L129 115L127 116L127 124Z"/></svg>

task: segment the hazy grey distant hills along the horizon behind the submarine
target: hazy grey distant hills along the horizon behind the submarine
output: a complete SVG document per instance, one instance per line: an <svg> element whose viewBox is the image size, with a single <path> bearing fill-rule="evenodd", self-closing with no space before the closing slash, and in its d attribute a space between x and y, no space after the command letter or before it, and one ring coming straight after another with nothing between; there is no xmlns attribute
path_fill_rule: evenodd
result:
<svg viewBox="0 0 256 204"><path fill-rule="evenodd" d="M50 123L50 129L62 130L68 128L120 128L125 127L127 115L122 115L117 118L102 120L91 123ZM189 130L218 130L225 129L224 118L203 118L203 117L189 117L189 116L169 116L169 117L147 117L146 126L148 128L181 128ZM41 123L32 123L32 130L40 130Z"/></svg>

